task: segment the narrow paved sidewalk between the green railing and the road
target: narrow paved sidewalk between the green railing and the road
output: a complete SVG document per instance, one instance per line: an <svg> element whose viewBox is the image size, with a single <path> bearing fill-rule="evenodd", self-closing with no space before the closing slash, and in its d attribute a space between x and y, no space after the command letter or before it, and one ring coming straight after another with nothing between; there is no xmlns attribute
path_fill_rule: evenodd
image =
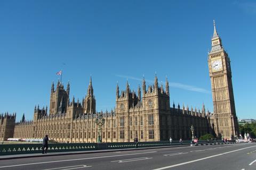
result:
<svg viewBox="0 0 256 170"><path fill-rule="evenodd" d="M87 151L69 151L69 152L48 152L47 154L42 154L41 151L40 151L40 153L38 153L38 154L3 155L3 156L0 156L0 160L20 159L20 158L35 158L35 157L45 157L45 156L60 156L60 155L93 154L93 153L101 153L101 152L115 152L115 151L127 151L127 150L174 148L174 147L187 147L187 146L190 146L190 145L147 147L147 148L127 148L127 149L103 149L103 150L87 150Z"/></svg>

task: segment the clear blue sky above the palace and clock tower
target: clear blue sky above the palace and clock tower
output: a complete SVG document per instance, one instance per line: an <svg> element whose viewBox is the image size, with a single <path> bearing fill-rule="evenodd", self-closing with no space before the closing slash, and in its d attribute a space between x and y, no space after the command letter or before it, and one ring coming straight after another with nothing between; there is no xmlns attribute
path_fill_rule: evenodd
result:
<svg viewBox="0 0 256 170"><path fill-rule="evenodd" d="M115 106L116 82L170 81L170 100L213 110L207 51L213 19L233 71L236 112L256 118L255 1L0 1L0 113L33 118L63 69L70 97L92 75L97 110ZM66 65L63 65L66 63Z"/></svg>

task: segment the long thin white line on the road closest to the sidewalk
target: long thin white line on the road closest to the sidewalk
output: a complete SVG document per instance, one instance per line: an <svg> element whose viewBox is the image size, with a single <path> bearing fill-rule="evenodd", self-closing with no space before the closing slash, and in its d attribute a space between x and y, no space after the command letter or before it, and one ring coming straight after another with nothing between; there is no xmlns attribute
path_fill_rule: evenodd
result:
<svg viewBox="0 0 256 170"><path fill-rule="evenodd" d="M39 163L29 163L29 164L19 164L19 165L0 166L0 168L15 167L15 166L25 166L25 165L37 165L37 164L59 163L59 162L68 162L68 161L74 161L74 160L99 159L99 158L109 158L109 157L118 157L118 156L129 156L129 155L150 154L150 153L155 153L155 152L157 152L157 151L141 152L141 153L136 153L136 154L124 154L124 155L100 156L100 157L92 157L92 158L80 158L80 159L55 160L55 161L49 161L49 162L39 162Z"/></svg>

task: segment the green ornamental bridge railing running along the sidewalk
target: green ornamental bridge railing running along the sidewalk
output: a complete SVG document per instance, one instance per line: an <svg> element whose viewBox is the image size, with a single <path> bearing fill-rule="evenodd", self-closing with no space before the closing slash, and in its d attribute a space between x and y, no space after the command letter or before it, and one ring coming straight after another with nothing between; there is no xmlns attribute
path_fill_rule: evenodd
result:
<svg viewBox="0 0 256 170"><path fill-rule="evenodd" d="M234 143L235 140L229 141ZM125 148L149 148L149 147L164 147L164 146L181 146L190 145L191 141L155 141L155 142L112 142L112 143L49 143L47 152L68 152L68 151L86 151L86 150L100 150L100 149L125 149ZM211 141L198 141L198 145L204 145L205 143L211 144ZM213 141L216 143L216 141ZM218 140L218 143L222 144L222 140ZM136 146L137 145L137 146ZM0 145L1 155L13 155L13 154L35 154L42 152L42 144L7 144Z"/></svg>

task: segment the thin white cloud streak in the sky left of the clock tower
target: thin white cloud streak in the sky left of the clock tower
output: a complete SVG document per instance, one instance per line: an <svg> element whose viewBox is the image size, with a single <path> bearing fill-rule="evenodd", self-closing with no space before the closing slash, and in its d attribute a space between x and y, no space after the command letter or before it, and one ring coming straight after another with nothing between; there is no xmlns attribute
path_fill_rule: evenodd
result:
<svg viewBox="0 0 256 170"><path fill-rule="evenodd" d="M125 78L125 79L132 79L132 80L142 81L142 79L140 79L140 78L132 77L132 76L129 76L129 75L116 74L115 76L119 77L119 78ZM149 83L154 83L153 80L145 79L145 81L149 82ZM211 91L206 90L204 88L199 88L199 87L191 86L191 85L188 85L188 84L182 84L182 83L178 83L178 82L169 82L169 86L173 87L173 88L179 88L179 89L183 89L183 90L188 90L188 91L196 91L196 92L202 92L202 93L205 93L205 94L211 94Z"/></svg>

